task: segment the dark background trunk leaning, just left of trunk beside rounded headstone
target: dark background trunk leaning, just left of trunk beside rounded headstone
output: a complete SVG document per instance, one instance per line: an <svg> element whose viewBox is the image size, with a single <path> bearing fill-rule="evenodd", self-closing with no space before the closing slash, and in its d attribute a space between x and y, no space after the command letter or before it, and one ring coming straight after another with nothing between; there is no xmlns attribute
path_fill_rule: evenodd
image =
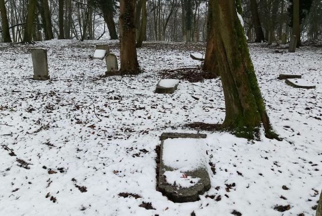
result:
<svg viewBox="0 0 322 216"><path fill-rule="evenodd" d="M116 40L118 39L118 37L116 33L115 23L113 20L112 1L101 1L100 3L101 3L102 12L103 12L103 17L107 24L107 28L109 30L111 40Z"/></svg>

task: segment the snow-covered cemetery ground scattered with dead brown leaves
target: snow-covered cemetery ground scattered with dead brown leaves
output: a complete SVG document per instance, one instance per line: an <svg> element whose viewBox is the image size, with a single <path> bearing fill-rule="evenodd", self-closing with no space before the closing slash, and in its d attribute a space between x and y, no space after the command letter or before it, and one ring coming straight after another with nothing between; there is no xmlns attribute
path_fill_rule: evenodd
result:
<svg viewBox="0 0 322 216"><path fill-rule="evenodd" d="M199 131L216 169L211 189L199 201L173 203L155 190L159 136L222 122L224 98L218 78L182 80L172 95L154 90L160 70L199 65L190 53L205 45L144 43L137 50L143 74L105 78L105 60L90 57L104 42L119 59L115 41L0 44L0 215L315 215L322 48L288 53L250 44L270 120L284 139ZM31 79L33 47L48 49L51 80ZM302 74L316 89L292 88L277 79L281 73Z"/></svg>

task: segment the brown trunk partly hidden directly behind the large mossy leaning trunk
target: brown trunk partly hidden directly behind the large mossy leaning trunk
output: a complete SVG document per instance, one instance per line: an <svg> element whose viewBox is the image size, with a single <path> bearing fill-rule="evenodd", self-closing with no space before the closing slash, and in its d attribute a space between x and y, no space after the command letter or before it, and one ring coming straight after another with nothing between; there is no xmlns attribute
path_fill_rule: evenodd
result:
<svg viewBox="0 0 322 216"><path fill-rule="evenodd" d="M208 19L207 19L207 48L205 54L205 61L203 64L203 69L211 71L212 74L218 76L218 63L216 60L215 53L215 38L214 38L214 11L213 11L214 3L213 1L209 1L208 6Z"/></svg>

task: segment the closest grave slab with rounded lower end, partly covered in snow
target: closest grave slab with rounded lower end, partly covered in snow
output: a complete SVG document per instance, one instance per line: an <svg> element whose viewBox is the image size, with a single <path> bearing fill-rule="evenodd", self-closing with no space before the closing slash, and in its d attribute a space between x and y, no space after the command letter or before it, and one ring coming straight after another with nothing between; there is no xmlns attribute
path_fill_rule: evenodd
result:
<svg viewBox="0 0 322 216"><path fill-rule="evenodd" d="M206 143L202 138L161 141L159 191L174 202L194 202L210 189Z"/></svg>

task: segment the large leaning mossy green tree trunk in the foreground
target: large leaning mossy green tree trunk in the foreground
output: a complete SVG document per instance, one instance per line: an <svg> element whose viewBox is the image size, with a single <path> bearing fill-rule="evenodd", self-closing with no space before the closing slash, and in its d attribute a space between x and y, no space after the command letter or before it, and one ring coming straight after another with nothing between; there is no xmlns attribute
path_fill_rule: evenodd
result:
<svg viewBox="0 0 322 216"><path fill-rule="evenodd" d="M222 127L233 130L236 136L253 139L258 137L263 123L266 136L277 138L266 113L236 8L241 14L240 0L214 2L215 55L226 107Z"/></svg>

